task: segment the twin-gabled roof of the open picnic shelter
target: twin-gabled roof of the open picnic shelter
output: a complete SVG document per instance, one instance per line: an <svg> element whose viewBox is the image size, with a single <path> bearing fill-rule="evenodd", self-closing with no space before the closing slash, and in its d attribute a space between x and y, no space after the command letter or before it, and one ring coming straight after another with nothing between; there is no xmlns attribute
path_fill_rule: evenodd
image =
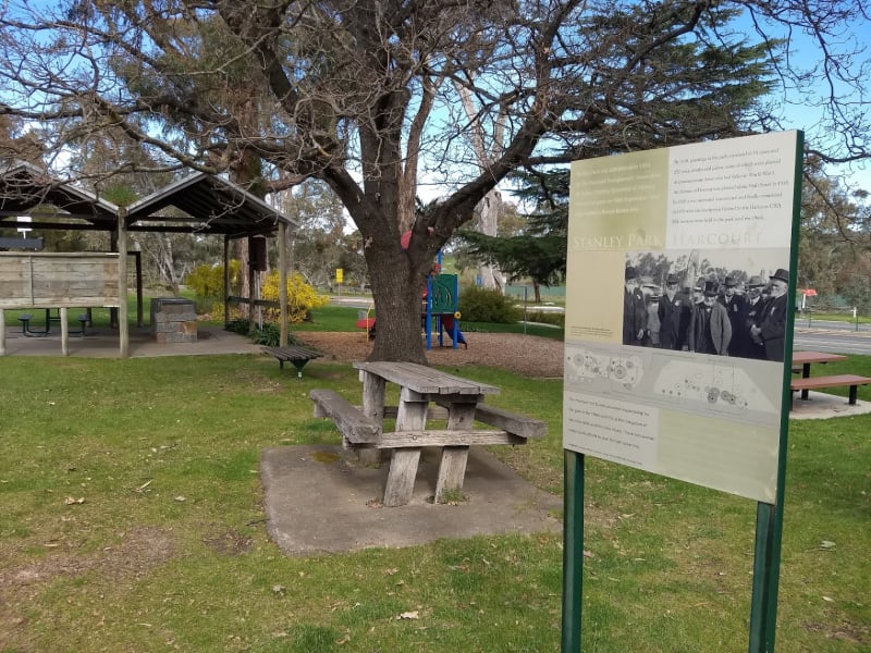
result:
<svg viewBox="0 0 871 653"><path fill-rule="evenodd" d="M116 229L122 209L61 182L29 163L0 173L0 227L17 226L30 215L34 230ZM297 223L241 186L216 175L195 173L131 205L125 211L131 232L222 234L232 237L271 235L280 223Z"/></svg>

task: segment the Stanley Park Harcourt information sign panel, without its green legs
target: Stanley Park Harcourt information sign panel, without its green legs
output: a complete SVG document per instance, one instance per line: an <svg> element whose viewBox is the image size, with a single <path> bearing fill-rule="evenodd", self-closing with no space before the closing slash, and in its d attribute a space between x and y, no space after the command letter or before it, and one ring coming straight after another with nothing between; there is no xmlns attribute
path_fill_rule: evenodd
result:
<svg viewBox="0 0 871 653"><path fill-rule="evenodd" d="M775 503L799 143L573 163L566 449Z"/></svg>

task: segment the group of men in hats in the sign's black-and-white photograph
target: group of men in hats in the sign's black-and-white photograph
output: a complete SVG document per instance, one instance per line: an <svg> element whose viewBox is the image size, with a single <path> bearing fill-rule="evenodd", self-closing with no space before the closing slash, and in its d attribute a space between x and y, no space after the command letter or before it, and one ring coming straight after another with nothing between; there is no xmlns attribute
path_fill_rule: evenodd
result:
<svg viewBox="0 0 871 653"><path fill-rule="evenodd" d="M668 274L661 295L647 297L638 271L626 268L623 344L716 356L783 361L789 273L780 269L746 283L699 280L680 288Z"/></svg>

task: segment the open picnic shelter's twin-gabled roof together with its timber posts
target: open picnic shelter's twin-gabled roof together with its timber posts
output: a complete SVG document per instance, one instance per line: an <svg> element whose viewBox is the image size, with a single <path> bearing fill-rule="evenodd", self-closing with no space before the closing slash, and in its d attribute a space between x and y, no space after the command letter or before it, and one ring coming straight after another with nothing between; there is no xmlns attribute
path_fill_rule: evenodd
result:
<svg viewBox="0 0 871 653"><path fill-rule="evenodd" d="M29 222L19 219L28 217ZM224 238L224 315L229 315L230 243L279 236L281 344L287 342L286 233L297 223L241 186L206 173L174 182L130 207L110 201L63 182L39 168L16 162L0 172L0 229L26 226L32 230L87 230L110 234L111 248L119 255L119 276L127 278L127 234L131 232L192 233ZM253 257L254 258L254 257ZM140 274L137 266L137 292ZM249 270L250 278L255 270ZM254 287L254 284L249 284ZM250 307L256 300L247 299ZM24 306L23 306L24 308ZM2 311L2 309L0 309ZM126 283L119 286L118 325L120 354L128 356ZM0 315L0 323L3 317Z"/></svg>

